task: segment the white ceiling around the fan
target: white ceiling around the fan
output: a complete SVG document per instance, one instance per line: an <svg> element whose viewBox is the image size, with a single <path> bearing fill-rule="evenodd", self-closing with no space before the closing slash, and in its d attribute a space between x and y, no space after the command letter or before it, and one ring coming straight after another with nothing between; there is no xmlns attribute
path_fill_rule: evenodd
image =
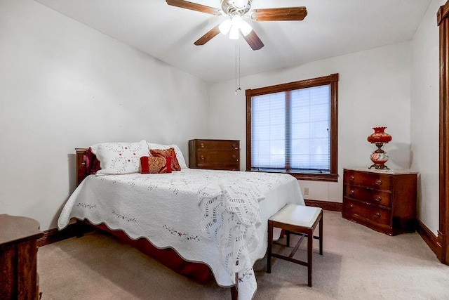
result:
<svg viewBox="0 0 449 300"><path fill-rule="evenodd" d="M208 82L300 65L408 41L431 0L253 0L252 8L306 6L302 21L249 21L265 46L253 51L219 34L194 41L225 20L165 0L36 0L55 11ZM220 8L220 0L189 0ZM239 46L236 46L239 45Z"/></svg>

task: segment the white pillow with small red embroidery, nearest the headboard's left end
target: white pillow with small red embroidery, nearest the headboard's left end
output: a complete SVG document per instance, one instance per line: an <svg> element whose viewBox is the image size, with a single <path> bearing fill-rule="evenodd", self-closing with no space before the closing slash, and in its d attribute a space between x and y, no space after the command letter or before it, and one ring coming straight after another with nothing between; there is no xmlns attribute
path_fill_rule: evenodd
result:
<svg viewBox="0 0 449 300"><path fill-rule="evenodd" d="M100 160L96 175L140 173L140 157L148 156L147 141L138 143L98 143L91 146Z"/></svg>

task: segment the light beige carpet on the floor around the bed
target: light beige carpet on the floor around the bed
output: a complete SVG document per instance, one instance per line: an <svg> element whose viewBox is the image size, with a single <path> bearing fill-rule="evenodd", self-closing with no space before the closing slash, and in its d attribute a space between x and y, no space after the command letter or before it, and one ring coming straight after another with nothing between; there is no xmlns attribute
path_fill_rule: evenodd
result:
<svg viewBox="0 0 449 300"><path fill-rule="evenodd" d="M304 266L273 259L267 274L257 261L254 299L449 299L449 266L417 233L390 237L325 211L323 256L317 240L314 251L312 287ZM43 300L231 298L100 233L39 248L38 272Z"/></svg>

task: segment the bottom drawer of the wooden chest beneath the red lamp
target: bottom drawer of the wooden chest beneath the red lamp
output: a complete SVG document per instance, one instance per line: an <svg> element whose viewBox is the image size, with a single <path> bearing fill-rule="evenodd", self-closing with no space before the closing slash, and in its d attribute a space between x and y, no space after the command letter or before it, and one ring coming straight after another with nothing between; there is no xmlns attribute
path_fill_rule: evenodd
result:
<svg viewBox="0 0 449 300"><path fill-rule="evenodd" d="M351 216L361 217L370 223L380 223L389 226L391 223L391 211L370 204L345 199L343 202L344 214L347 219Z"/></svg>

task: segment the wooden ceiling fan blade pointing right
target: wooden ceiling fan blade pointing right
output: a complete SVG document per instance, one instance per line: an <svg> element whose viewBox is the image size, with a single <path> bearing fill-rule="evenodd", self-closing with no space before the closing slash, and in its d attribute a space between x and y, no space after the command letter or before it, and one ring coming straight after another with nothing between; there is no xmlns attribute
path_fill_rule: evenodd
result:
<svg viewBox="0 0 449 300"><path fill-rule="evenodd" d="M307 15L307 8L284 7L284 8L261 8L251 13L251 19L255 21L300 21Z"/></svg>

